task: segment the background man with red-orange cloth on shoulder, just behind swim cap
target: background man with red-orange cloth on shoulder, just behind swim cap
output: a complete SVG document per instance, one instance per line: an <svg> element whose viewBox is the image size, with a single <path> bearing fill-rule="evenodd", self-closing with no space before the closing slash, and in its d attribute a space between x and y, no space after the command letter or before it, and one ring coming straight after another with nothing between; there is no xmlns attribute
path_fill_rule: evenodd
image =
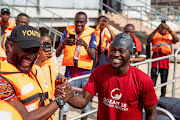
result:
<svg viewBox="0 0 180 120"><path fill-rule="evenodd" d="M131 63L141 62L146 59L146 50L141 41L135 36L135 27L133 24L127 24L124 27L124 33L129 34L133 39L133 55Z"/></svg>

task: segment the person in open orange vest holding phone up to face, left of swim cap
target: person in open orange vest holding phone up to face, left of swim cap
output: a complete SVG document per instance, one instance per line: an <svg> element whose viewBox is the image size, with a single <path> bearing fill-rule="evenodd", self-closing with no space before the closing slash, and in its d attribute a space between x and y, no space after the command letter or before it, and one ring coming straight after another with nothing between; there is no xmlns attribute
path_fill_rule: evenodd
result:
<svg viewBox="0 0 180 120"><path fill-rule="evenodd" d="M108 24L108 19L106 16L100 16L98 18L98 25L95 29L97 51L96 60L94 61L95 67L103 64L109 64L109 59L107 53L109 51L109 45L114 39L115 34L113 30L110 29Z"/></svg>

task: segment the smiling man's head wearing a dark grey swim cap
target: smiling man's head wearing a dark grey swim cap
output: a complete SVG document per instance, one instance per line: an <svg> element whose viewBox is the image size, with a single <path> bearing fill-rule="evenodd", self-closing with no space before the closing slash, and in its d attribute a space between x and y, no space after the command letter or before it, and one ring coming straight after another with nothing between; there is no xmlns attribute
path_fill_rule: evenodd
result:
<svg viewBox="0 0 180 120"><path fill-rule="evenodd" d="M109 47L108 58L111 66L115 69L127 68L129 66L133 41L130 35L120 33L115 36Z"/></svg>

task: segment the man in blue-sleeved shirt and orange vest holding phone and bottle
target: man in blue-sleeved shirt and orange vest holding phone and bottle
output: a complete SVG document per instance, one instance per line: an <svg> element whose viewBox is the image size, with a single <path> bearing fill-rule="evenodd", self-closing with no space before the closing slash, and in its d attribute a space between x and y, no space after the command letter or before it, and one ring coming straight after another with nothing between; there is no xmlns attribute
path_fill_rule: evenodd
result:
<svg viewBox="0 0 180 120"><path fill-rule="evenodd" d="M62 65L66 66L65 76L68 79L90 74L96 52L96 36L94 35L94 29L85 26L87 23L87 15L84 12L76 13L74 23L75 25L66 27L66 31L63 33L60 44L56 49L57 57L62 54L62 50L64 49ZM82 88L87 82L88 78L84 78L72 81L71 85L73 87ZM66 104L63 110L65 120L69 105ZM88 111L90 111L90 103L83 108L82 113ZM85 120L87 117L82 119Z"/></svg>

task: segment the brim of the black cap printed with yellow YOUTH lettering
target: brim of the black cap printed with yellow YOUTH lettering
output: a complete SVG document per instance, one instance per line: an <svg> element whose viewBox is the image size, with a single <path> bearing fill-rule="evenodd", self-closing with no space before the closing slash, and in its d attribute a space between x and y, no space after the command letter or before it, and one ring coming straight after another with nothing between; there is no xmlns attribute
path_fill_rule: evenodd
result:
<svg viewBox="0 0 180 120"><path fill-rule="evenodd" d="M37 41L18 41L18 45L21 48L33 48L33 47L41 47L41 43Z"/></svg>

